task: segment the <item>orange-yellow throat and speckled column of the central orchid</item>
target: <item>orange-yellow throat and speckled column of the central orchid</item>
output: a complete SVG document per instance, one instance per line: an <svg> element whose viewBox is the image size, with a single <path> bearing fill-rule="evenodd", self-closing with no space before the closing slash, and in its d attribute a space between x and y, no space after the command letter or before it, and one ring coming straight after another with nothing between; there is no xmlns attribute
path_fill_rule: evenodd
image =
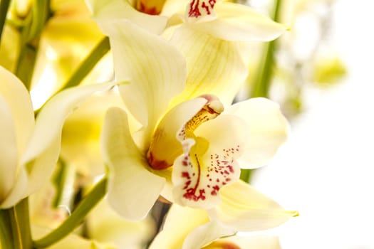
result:
<svg viewBox="0 0 374 249"><path fill-rule="evenodd" d="M170 117L183 115L174 113L171 110L170 114L165 115L157 126L147 152L147 161L153 169L166 169L172 166L174 160L183 154L182 145L177 139L177 134L190 137L200 124L214 119L223 112L222 103L214 95L202 95L200 97L204 97L207 103L187 122L175 129L167 130L167 127L172 127L170 125L170 122L172 122Z"/></svg>

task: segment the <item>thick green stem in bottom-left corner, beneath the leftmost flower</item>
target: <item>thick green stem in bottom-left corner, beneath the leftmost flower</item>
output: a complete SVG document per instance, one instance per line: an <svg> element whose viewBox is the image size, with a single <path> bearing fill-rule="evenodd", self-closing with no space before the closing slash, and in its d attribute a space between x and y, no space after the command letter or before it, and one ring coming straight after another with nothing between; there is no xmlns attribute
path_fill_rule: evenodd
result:
<svg viewBox="0 0 374 249"><path fill-rule="evenodd" d="M24 198L16 206L0 210L0 240L2 248L31 248L28 198Z"/></svg>

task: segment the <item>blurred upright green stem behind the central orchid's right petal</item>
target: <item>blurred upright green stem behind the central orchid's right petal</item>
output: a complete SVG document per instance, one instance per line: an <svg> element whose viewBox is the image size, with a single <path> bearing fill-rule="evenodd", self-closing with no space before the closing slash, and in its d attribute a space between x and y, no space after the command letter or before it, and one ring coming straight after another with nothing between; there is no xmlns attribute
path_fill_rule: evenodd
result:
<svg viewBox="0 0 374 249"><path fill-rule="evenodd" d="M279 21L281 0L274 0L274 21ZM273 67L275 63L274 52L276 51L276 40L267 43L264 47L264 60L258 74L258 78L251 90L251 97L268 97L273 79ZM251 180L253 170L241 169L240 179L246 182Z"/></svg>

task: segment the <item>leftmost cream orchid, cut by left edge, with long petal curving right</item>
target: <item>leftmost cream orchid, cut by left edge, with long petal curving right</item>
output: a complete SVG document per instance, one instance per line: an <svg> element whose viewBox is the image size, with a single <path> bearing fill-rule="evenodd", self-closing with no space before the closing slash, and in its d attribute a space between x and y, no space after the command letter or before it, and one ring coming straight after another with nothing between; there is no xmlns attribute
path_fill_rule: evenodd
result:
<svg viewBox="0 0 374 249"><path fill-rule="evenodd" d="M116 84L61 92L34 120L31 98L21 81L2 67L0 78L0 208L9 208L40 189L51 176L68 114L86 97Z"/></svg>

